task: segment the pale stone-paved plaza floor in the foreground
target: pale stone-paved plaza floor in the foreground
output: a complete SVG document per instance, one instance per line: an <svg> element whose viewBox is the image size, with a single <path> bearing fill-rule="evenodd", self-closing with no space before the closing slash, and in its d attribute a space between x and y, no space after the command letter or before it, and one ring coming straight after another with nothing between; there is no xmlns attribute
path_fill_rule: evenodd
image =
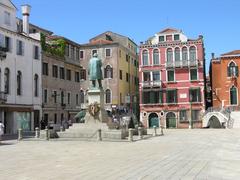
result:
<svg viewBox="0 0 240 180"><path fill-rule="evenodd" d="M4 141L0 179L239 179L237 129L165 130L135 142Z"/></svg>

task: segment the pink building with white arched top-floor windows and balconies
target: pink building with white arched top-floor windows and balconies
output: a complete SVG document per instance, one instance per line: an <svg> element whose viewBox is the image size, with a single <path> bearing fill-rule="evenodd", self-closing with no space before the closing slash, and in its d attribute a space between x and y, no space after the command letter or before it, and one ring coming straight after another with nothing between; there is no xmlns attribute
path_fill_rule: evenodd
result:
<svg viewBox="0 0 240 180"><path fill-rule="evenodd" d="M139 52L140 121L145 127L200 128L205 111L203 37L156 33Z"/></svg>

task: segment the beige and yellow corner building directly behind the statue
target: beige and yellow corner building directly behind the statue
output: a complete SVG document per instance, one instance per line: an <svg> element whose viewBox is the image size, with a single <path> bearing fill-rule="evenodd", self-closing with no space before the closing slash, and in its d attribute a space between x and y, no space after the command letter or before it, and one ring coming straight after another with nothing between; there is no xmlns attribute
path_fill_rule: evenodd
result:
<svg viewBox="0 0 240 180"><path fill-rule="evenodd" d="M105 109L127 108L137 113L138 57L137 45L128 37L107 31L81 45L81 104L87 105L89 87L87 67L94 53L102 60Z"/></svg>

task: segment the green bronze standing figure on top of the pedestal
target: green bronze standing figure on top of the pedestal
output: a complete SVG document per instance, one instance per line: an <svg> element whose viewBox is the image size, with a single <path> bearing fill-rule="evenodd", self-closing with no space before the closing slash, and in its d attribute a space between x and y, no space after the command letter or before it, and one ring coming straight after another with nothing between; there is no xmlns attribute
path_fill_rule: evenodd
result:
<svg viewBox="0 0 240 180"><path fill-rule="evenodd" d="M98 81L99 88L102 88L102 61L98 58L97 53L93 54L93 57L88 63L88 75L89 80L92 81L92 88L96 88L96 80Z"/></svg>

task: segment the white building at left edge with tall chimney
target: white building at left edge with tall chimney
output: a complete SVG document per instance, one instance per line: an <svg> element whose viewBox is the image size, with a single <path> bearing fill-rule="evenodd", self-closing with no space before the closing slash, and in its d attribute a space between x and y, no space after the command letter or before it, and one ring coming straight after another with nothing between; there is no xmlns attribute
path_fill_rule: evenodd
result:
<svg viewBox="0 0 240 180"><path fill-rule="evenodd" d="M41 46L39 33L29 33L30 6L22 6L21 26L16 7L0 2L0 119L5 134L33 130L41 116ZM2 52L1 52L2 54Z"/></svg>

